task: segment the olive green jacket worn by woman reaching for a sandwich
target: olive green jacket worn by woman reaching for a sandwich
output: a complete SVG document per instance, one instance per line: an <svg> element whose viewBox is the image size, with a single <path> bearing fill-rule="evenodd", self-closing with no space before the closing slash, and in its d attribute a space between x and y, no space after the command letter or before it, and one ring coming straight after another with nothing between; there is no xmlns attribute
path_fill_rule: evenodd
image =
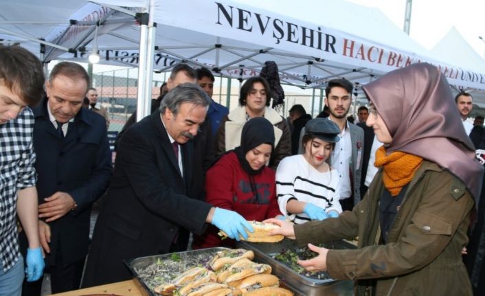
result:
<svg viewBox="0 0 485 296"><path fill-rule="evenodd" d="M423 161L379 244L382 173L352 212L295 225L298 244L359 236L358 249L330 250L326 262L331 277L356 280L355 295L472 295L462 249L475 202L464 183Z"/></svg>

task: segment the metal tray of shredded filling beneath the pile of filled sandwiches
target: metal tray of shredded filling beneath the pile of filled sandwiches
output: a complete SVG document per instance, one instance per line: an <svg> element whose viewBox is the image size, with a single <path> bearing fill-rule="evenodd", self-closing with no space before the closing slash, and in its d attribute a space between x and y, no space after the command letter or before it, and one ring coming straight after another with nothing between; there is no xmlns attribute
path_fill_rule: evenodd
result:
<svg viewBox="0 0 485 296"><path fill-rule="evenodd" d="M175 271L177 273L183 273L183 271L186 271L187 269L190 269L191 267L194 267L196 265L202 264L204 265L207 263L209 260L208 258L212 258L212 256L217 252L217 251L222 251L227 248L209 248L209 249L200 249L200 250L193 250L193 251L185 251L185 252L178 252L178 253L168 253L168 254L163 254L163 255L153 255L153 256L146 256L146 257L140 257L140 258L135 258L131 260L125 260L126 266L128 266L128 269L131 271L131 274L137 280L137 284L139 286L142 286L144 289L143 292L144 295L146 296L160 296L159 294L155 293L152 288L148 286L144 280L139 276L139 273L137 272L137 269L146 269L148 266L151 264L154 264L155 262L161 260L170 260L174 254L178 255L180 258L180 264L177 264L177 268L179 269L178 271ZM193 258L205 258L205 262L194 262L192 260ZM203 261L203 260L201 260ZM189 262L189 263L188 263Z"/></svg>

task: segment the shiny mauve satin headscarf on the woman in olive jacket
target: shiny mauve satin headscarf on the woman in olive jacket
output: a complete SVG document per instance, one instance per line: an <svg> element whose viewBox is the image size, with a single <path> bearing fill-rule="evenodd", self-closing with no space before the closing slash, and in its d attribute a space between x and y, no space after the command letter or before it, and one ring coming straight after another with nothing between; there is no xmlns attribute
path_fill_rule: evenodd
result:
<svg viewBox="0 0 485 296"><path fill-rule="evenodd" d="M458 177L478 204L484 170L475 160L449 84L436 67L420 63L397 69L363 90L392 136L386 152L403 151L437 163Z"/></svg>

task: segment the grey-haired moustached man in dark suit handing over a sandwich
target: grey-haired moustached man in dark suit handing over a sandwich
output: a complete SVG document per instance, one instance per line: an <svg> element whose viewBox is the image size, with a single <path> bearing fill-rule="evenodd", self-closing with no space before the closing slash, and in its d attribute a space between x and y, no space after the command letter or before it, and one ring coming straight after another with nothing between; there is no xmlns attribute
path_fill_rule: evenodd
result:
<svg viewBox="0 0 485 296"><path fill-rule="evenodd" d="M98 216L83 286L129 280L123 260L183 251L189 231L207 223L230 238L251 225L236 212L214 208L192 194L192 139L210 98L194 83L169 91L160 112L133 124L120 142L113 180Z"/></svg>

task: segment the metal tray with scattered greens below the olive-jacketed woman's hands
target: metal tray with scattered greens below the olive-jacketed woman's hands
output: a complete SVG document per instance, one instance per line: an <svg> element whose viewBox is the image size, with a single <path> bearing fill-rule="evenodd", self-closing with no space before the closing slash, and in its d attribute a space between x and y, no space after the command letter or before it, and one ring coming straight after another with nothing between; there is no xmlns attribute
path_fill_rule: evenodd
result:
<svg viewBox="0 0 485 296"><path fill-rule="evenodd" d="M343 240L330 242L332 249L356 249L353 244ZM317 296L317 295L352 295L353 282L350 280L333 280L326 278L317 280L312 277L300 275L293 271L289 266L275 260L274 255L280 253L283 249L293 249L297 247L294 240L285 238L281 242L264 243L264 242L238 242L238 247L252 250L254 252L254 261L269 264L273 267L273 274L280 277L285 286L296 291L300 295Z"/></svg>

